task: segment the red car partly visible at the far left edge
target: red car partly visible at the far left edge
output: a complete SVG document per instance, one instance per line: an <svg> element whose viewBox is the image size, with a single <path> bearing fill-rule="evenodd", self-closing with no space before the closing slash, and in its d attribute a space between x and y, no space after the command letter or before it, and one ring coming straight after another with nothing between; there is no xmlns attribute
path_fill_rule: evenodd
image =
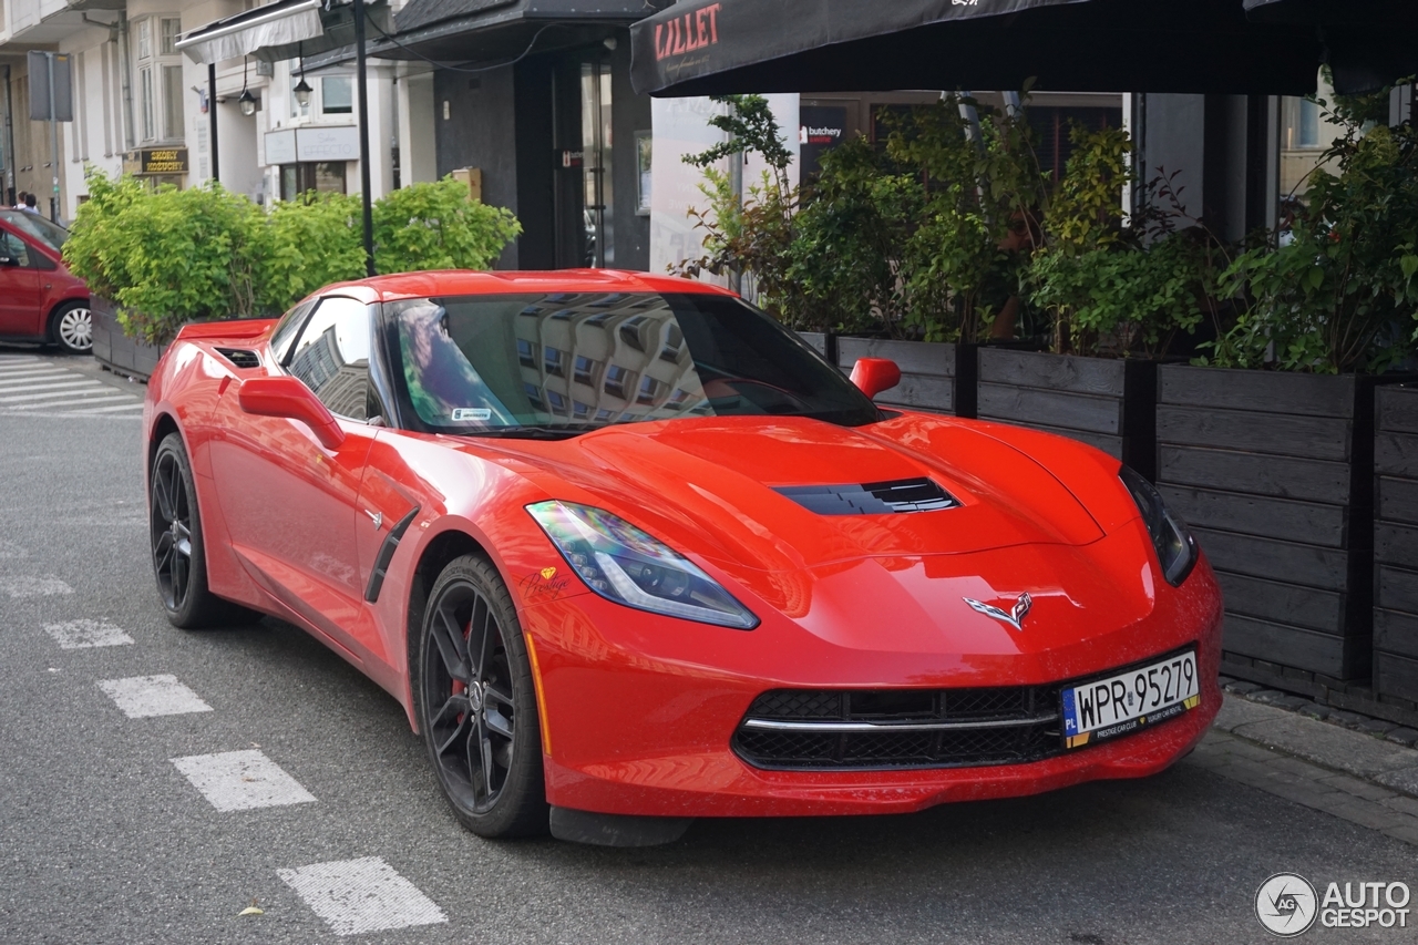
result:
<svg viewBox="0 0 1418 945"><path fill-rule="evenodd" d="M64 227L24 210L0 210L0 339L94 350L84 280L64 267Z"/></svg>

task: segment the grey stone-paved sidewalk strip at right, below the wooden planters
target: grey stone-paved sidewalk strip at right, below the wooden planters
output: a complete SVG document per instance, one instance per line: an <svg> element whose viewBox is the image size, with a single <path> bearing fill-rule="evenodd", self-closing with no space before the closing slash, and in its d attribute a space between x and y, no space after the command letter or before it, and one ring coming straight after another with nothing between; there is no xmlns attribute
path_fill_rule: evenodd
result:
<svg viewBox="0 0 1418 945"><path fill-rule="evenodd" d="M1401 744L1228 694L1188 761L1418 846L1418 751Z"/></svg>

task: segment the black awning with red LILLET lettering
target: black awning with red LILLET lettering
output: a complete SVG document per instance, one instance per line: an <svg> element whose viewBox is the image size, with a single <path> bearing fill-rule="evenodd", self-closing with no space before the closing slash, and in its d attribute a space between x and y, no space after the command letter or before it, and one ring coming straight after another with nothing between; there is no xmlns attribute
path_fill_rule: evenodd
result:
<svg viewBox="0 0 1418 945"><path fill-rule="evenodd" d="M1339 0L1347 3L1349 0ZM1241 0L689 0L631 28L635 89L1305 95L1322 44Z"/></svg>

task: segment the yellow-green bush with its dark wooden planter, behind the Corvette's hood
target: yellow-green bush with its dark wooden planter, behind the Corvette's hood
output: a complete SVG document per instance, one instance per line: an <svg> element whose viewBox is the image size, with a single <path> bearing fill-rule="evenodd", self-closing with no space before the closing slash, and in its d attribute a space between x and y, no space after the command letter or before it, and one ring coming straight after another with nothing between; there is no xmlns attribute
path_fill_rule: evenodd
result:
<svg viewBox="0 0 1418 945"><path fill-rule="evenodd" d="M981 419L1082 440L1156 477L1157 365L1202 321L1217 241L1185 216L1171 177L1124 220L1126 131L1072 131L1075 153L1044 211L1028 272L1048 350L980 350Z"/></svg>

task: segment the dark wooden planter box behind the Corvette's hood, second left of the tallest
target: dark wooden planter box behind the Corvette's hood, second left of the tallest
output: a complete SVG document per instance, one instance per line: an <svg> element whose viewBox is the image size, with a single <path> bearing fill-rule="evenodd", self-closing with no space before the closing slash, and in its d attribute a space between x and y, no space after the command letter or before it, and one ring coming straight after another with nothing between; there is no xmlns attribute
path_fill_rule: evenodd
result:
<svg viewBox="0 0 1418 945"><path fill-rule="evenodd" d="M1082 440L1156 474L1157 362L980 348L978 417Z"/></svg>

